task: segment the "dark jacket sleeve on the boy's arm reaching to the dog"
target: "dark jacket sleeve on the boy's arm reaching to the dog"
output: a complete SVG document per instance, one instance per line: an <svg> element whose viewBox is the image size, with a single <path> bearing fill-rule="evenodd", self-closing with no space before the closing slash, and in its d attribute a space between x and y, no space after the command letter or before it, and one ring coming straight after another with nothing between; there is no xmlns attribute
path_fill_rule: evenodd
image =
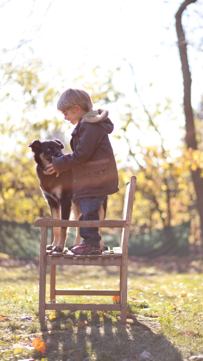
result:
<svg viewBox="0 0 203 361"><path fill-rule="evenodd" d="M74 152L58 158L53 157L52 159L54 170L58 174L87 161L98 147L100 132L102 131L100 126L95 127L91 123L83 123L80 125L79 131L79 143Z"/></svg>

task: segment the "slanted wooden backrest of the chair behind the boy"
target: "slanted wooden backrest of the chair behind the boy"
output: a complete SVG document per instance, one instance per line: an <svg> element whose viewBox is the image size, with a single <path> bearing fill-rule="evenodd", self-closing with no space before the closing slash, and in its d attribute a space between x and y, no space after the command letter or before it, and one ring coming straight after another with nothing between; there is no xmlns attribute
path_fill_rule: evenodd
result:
<svg viewBox="0 0 203 361"><path fill-rule="evenodd" d="M122 228L120 235L120 248L123 250L123 252L127 251L128 249L135 187L136 177L132 175L131 181L127 183L125 188L125 198L123 205L123 220L125 220L125 228Z"/></svg>

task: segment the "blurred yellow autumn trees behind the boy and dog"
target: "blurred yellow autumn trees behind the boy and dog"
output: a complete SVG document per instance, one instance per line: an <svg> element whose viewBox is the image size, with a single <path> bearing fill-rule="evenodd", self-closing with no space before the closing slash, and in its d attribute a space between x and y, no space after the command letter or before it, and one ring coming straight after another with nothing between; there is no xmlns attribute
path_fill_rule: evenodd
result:
<svg viewBox="0 0 203 361"><path fill-rule="evenodd" d="M163 129L168 127L172 142L177 115L171 100L158 103L157 99L156 106L146 105L137 90L133 67L126 61L125 67L135 79L131 97L120 90L118 80L115 80L122 73L120 66L111 70L96 66L89 76L89 82L85 82L95 107L113 109L118 105L120 109L116 118L112 118L113 123L120 125L114 131L113 144L115 153L118 153L120 192L110 197L107 217L122 216L125 184L135 174L137 190L132 232L154 231L191 219L190 242L200 244L197 206L200 196L197 195L192 175L198 173L202 182L203 108L193 109L197 146L186 146L182 141L176 149L170 148ZM38 217L50 216L41 195L28 143L36 138L44 140L56 137L64 144L65 152L70 152L71 129L57 114L59 90L50 79L48 81L46 71L43 60L33 56L30 56L30 60L26 56L19 64L17 60L1 64L0 218L6 221L33 223ZM65 82L61 74L56 74L56 77L59 77L60 83ZM83 77L81 71L75 84ZM17 113L21 114L20 121L16 121ZM184 130L180 134L184 134ZM157 139L157 142L151 142L150 138Z"/></svg>

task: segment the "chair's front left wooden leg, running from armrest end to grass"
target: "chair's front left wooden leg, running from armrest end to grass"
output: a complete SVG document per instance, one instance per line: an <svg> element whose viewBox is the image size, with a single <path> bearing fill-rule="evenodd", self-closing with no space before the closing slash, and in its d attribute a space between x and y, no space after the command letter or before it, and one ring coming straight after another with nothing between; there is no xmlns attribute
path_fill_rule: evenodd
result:
<svg viewBox="0 0 203 361"><path fill-rule="evenodd" d="M45 323L45 295L46 295L46 245L47 227L41 227L40 259L39 259L39 320Z"/></svg>

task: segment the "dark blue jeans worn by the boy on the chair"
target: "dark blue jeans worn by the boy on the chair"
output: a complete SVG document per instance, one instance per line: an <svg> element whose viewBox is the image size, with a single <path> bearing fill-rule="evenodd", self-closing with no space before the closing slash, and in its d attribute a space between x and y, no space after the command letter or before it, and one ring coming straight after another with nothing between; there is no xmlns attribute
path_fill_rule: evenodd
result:
<svg viewBox="0 0 203 361"><path fill-rule="evenodd" d="M98 211L104 199L105 197L81 198L79 201L81 210L79 221L98 221L100 219ZM98 227L80 227L79 233L85 243L100 247L101 236Z"/></svg>

